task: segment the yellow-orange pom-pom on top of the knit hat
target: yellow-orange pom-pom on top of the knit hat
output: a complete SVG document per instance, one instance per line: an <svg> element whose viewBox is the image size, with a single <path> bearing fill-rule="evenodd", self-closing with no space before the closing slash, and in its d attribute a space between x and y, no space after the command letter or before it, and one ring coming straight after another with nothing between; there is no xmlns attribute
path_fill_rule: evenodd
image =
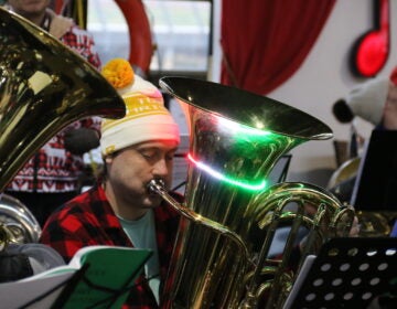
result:
<svg viewBox="0 0 397 309"><path fill-rule="evenodd" d="M124 88L133 83L135 73L127 60L110 60L101 70L105 78L117 89Z"/></svg>

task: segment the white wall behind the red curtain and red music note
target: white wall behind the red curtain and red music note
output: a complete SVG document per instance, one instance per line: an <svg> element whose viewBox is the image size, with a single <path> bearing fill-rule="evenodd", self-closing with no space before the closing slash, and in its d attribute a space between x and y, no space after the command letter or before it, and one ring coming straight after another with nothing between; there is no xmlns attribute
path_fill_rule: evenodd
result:
<svg viewBox="0 0 397 309"><path fill-rule="evenodd" d="M216 2L216 1L215 1ZM374 23L373 0L337 0L324 25L322 33L298 72L283 85L268 94L329 125L335 139L348 139L350 125L340 124L332 114L336 99L347 95L350 89L366 78L354 76L348 67L348 54L353 43ZM218 17L218 14L217 14ZM391 20L391 18L395 18ZM390 1L390 29L397 30L397 1ZM215 24L218 24L215 22ZM397 64L396 34L391 35L388 61L379 75L388 76ZM218 38L215 38L215 45ZM214 53L212 76L218 81L221 55ZM362 134L368 136L372 126L364 120L357 121ZM292 151L290 180L310 180L311 171L334 169L336 167L332 140L308 141ZM323 184L320 181L319 184Z"/></svg>

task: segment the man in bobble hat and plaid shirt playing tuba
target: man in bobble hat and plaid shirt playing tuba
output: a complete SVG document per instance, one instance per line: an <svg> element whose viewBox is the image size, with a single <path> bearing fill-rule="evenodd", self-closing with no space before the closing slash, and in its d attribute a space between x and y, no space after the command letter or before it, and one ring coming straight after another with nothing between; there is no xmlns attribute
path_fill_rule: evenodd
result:
<svg viewBox="0 0 397 309"><path fill-rule="evenodd" d="M161 307L165 278L179 225L179 214L148 189L152 179L172 181L179 127L163 105L161 93L133 74L121 58L103 68L125 99L122 119L104 119L100 150L104 171L96 185L66 202L47 220L40 242L71 260L82 247L115 245L150 248L144 266L124 308ZM171 193L182 202L182 196Z"/></svg>

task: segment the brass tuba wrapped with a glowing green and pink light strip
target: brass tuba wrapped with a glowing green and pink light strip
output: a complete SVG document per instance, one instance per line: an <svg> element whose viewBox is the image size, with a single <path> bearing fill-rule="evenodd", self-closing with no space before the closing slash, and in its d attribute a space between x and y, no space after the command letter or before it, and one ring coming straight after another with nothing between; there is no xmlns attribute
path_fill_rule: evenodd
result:
<svg viewBox="0 0 397 309"><path fill-rule="evenodd" d="M182 214L164 307L281 308L297 274L289 269L298 230L308 231L304 257L347 235L354 211L315 185L269 188L267 178L282 154L332 131L288 105L216 83L164 77L160 86L186 111L191 134L185 204L150 185ZM269 249L281 226L290 233L280 260Z"/></svg>

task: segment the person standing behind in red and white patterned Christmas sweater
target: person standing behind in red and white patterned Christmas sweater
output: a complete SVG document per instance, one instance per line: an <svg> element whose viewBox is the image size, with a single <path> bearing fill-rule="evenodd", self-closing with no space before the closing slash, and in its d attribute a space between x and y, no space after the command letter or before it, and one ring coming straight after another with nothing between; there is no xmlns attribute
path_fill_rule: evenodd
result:
<svg viewBox="0 0 397 309"><path fill-rule="evenodd" d="M50 32L99 70L92 35L73 20L55 14L50 2L8 0L6 8ZM41 226L55 207L78 193L83 153L99 146L99 117L73 122L44 145L7 187L6 193L24 203Z"/></svg>

